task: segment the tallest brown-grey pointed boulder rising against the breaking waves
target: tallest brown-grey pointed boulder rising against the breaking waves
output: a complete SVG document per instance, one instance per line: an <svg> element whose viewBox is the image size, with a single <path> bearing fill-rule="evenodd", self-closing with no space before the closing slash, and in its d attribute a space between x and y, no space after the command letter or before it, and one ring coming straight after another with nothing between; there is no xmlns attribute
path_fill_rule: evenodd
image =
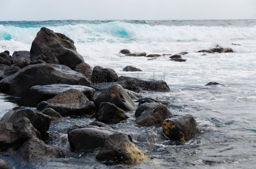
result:
<svg viewBox="0 0 256 169"><path fill-rule="evenodd" d="M61 33L54 33L45 27L36 34L30 49L30 58L43 54L46 57L54 55L60 65L74 69L84 62L84 58L76 52L74 41Z"/></svg>

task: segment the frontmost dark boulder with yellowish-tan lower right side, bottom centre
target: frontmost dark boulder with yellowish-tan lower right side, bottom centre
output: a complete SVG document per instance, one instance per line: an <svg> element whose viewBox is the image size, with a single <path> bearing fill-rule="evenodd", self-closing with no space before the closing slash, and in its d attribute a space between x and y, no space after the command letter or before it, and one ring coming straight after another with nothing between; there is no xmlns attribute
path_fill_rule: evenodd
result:
<svg viewBox="0 0 256 169"><path fill-rule="evenodd" d="M149 160L130 138L122 133L114 133L108 137L103 149L96 155L100 161L135 164Z"/></svg>

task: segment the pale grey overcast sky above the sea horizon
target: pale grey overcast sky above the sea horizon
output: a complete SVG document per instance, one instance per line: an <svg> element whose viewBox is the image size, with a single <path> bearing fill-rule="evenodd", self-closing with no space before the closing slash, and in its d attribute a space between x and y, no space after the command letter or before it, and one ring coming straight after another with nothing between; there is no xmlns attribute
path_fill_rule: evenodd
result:
<svg viewBox="0 0 256 169"><path fill-rule="evenodd" d="M0 20L256 19L256 0L0 0Z"/></svg>

